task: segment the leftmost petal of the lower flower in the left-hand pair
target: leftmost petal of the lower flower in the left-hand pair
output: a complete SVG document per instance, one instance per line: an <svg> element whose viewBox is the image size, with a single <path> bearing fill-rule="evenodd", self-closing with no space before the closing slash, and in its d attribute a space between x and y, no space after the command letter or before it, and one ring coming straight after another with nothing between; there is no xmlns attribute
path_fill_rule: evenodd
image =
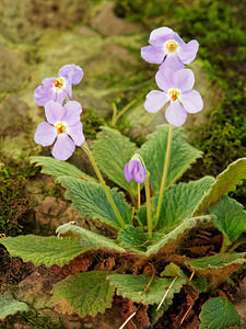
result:
<svg viewBox="0 0 246 329"><path fill-rule="evenodd" d="M57 132L47 122L42 122L37 125L37 129L34 135L34 140L42 146L49 146L54 143L57 136Z"/></svg>

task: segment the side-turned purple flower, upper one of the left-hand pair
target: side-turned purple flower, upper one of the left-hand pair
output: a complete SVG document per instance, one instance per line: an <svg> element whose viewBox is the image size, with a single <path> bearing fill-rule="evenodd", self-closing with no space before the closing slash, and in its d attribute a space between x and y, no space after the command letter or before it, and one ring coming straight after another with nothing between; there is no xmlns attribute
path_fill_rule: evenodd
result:
<svg viewBox="0 0 246 329"><path fill-rule="evenodd" d="M48 101L55 101L62 104L69 95L72 97L72 84L78 84L83 78L83 70L79 66L65 65L58 72L58 78L47 78L42 81L34 91L34 98L37 105L44 106Z"/></svg>

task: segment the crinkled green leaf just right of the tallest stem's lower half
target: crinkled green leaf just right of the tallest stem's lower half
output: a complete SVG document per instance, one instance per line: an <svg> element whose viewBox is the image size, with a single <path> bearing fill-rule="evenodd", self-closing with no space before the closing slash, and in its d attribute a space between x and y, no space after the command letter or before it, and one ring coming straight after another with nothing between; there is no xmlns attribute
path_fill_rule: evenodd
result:
<svg viewBox="0 0 246 329"><path fill-rule="evenodd" d="M157 228L175 228L185 218L191 217L194 209L213 182L212 177L204 177L189 183L179 183L165 191ZM157 202L159 194L153 198L155 207Z"/></svg>

